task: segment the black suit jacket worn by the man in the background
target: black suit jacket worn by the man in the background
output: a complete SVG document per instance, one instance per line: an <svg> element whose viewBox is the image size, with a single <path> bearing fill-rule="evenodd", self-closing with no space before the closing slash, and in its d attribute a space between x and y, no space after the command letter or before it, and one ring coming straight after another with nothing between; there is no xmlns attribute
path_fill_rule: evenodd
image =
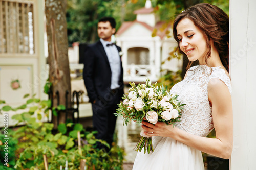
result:
<svg viewBox="0 0 256 170"><path fill-rule="evenodd" d="M118 52L121 51L119 46L116 46ZM87 93L90 102L97 99L105 99L111 92L111 69L108 56L106 56L104 47L100 41L93 45L89 45L84 54L83 80L86 85ZM123 68L121 62L121 76L119 79L120 95L123 96Z"/></svg>

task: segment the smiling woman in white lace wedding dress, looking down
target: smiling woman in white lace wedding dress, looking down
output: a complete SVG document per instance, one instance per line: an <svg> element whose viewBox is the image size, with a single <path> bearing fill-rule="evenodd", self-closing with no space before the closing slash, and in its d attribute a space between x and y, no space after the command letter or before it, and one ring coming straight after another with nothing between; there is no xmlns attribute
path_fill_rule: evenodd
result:
<svg viewBox="0 0 256 170"><path fill-rule="evenodd" d="M184 80L171 93L185 103L174 127L142 122L154 152L138 152L133 169L203 170L202 152L229 159L233 147L231 82L228 74L229 18L218 7L197 4L177 16L173 35L189 59ZM192 66L194 62L198 65ZM195 65L195 64L194 64ZM206 136L215 128L216 138Z"/></svg>

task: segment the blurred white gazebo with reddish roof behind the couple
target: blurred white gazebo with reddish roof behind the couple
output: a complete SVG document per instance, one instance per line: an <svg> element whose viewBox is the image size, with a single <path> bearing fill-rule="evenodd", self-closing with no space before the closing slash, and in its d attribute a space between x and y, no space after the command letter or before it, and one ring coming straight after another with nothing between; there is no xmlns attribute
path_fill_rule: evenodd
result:
<svg viewBox="0 0 256 170"><path fill-rule="evenodd" d="M116 33L116 42L122 48L122 63L124 68L124 82L143 82L146 78L157 81L162 69L177 71L182 64L178 59L172 59L165 64L162 61L169 57L169 53L177 46L173 38L167 38L164 31L159 30L164 22L154 13L151 1L147 0L145 7L134 11L136 20L123 22Z"/></svg>

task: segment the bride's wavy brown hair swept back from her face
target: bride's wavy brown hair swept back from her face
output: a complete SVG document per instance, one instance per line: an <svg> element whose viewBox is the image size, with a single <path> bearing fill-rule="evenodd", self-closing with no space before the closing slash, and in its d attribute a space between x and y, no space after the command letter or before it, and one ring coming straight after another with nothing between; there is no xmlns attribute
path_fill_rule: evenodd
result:
<svg viewBox="0 0 256 170"><path fill-rule="evenodd" d="M202 31L206 38L208 47L205 58L206 64L209 65L207 61L211 56L210 40L212 40L214 47L219 52L223 66L228 71L229 18L227 14L219 7L207 3L194 5L180 13L174 20L173 35L174 39L178 42L176 51L179 49L179 52L185 55L180 49L179 39L177 37L177 25L184 18L193 21L195 26ZM193 62L189 61L187 69L189 69L192 64Z"/></svg>

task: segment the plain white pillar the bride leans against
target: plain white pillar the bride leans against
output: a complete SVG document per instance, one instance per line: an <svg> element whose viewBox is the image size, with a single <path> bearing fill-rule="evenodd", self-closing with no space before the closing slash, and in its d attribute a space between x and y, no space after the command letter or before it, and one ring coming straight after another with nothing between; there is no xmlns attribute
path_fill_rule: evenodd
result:
<svg viewBox="0 0 256 170"><path fill-rule="evenodd" d="M234 145L230 169L256 167L256 1L230 1Z"/></svg>

